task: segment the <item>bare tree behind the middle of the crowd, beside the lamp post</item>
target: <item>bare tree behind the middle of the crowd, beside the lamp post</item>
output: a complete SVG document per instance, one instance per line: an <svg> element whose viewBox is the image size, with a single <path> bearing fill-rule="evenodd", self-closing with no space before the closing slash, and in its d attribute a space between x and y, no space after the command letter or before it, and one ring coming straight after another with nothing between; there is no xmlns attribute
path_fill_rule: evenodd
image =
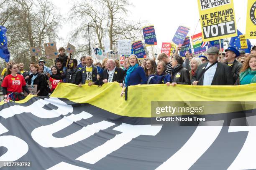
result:
<svg viewBox="0 0 256 170"><path fill-rule="evenodd" d="M128 0L87 0L76 2L72 7L70 21L78 20L79 25L72 31L72 40L86 40L88 42L88 25L90 26L90 40L92 44L103 46L103 37L110 38L110 50L114 50L114 44L118 37L137 40L141 37L142 23L140 21L128 21ZM83 45L80 52L88 50L88 45Z"/></svg>

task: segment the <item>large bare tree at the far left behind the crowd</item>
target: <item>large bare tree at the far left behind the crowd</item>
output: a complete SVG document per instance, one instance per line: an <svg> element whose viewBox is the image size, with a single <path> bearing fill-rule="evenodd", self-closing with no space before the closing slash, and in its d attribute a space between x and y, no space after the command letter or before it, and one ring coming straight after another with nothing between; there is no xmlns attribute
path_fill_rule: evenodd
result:
<svg viewBox="0 0 256 170"><path fill-rule="evenodd" d="M6 18L3 25L7 28L11 57L17 62L35 62L36 57L29 54L30 47L43 47L45 42L58 38L60 15L48 0L8 0L8 4L1 14Z"/></svg>

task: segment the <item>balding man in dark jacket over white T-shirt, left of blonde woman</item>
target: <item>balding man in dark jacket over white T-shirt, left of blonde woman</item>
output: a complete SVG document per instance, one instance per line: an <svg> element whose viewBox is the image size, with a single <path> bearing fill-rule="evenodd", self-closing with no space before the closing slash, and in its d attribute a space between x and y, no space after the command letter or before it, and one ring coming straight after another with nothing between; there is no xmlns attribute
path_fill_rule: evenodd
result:
<svg viewBox="0 0 256 170"><path fill-rule="evenodd" d="M103 76L100 77L100 85L107 82L122 83L124 78L124 70L115 66L115 60L108 59L107 69L103 71Z"/></svg>

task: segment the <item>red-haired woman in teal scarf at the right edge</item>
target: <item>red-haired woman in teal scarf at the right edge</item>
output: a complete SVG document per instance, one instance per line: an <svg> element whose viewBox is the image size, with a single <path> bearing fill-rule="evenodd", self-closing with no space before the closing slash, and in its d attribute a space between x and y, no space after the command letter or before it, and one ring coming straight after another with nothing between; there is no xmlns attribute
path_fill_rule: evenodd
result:
<svg viewBox="0 0 256 170"><path fill-rule="evenodd" d="M250 55L241 69L236 85L256 83L256 55Z"/></svg>

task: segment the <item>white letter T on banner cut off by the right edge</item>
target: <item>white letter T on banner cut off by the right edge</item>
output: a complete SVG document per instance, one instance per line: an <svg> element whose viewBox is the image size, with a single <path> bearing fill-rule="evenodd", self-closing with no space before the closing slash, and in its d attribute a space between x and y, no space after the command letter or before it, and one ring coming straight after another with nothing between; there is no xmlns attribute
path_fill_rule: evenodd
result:
<svg viewBox="0 0 256 170"><path fill-rule="evenodd" d="M228 167L228 170L249 170L256 169L255 153L256 153L256 130L255 120L256 116L246 117L248 126L229 126L228 132L248 131L248 135L243 148L238 153L236 159ZM250 125L251 124L251 125Z"/></svg>

